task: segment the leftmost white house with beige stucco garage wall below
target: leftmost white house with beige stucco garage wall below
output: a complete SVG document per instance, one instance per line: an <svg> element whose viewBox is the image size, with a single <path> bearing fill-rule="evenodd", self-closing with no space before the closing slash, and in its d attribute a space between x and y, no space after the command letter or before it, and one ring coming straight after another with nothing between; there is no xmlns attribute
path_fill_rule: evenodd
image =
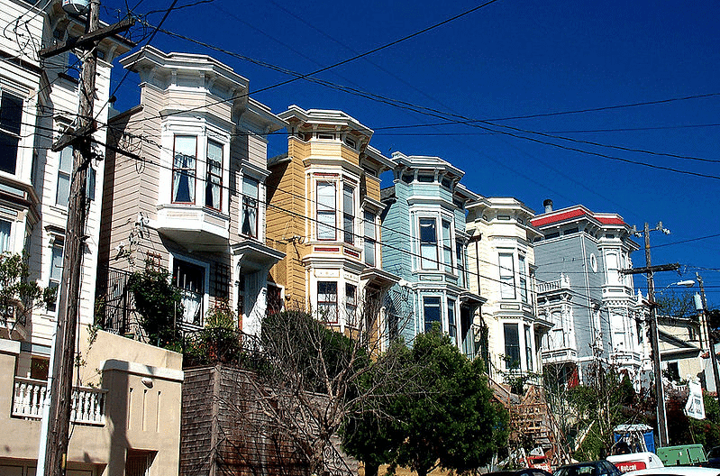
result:
<svg viewBox="0 0 720 476"><path fill-rule="evenodd" d="M73 52L65 52L41 62L38 50L81 35L85 26L82 19L66 14L59 0L42 5L0 0L0 26L0 252L25 252L31 279L61 294L73 154L71 147L54 152L51 146L76 123L79 61ZM120 476L132 474L126 471L130 467L150 475L178 471L179 411L160 401L179 398L180 356L114 334L100 331L91 339L84 332L94 323L105 173L100 144L106 141L110 71L114 59L132 46L114 36L99 41L96 48L95 114L100 128L93 134L97 159L88 174L77 322L77 352L85 363L74 379L74 429L67 455L72 476ZM3 310L2 474L32 476L36 471L59 302L56 298L48 307ZM143 420L150 416L157 425Z"/></svg>

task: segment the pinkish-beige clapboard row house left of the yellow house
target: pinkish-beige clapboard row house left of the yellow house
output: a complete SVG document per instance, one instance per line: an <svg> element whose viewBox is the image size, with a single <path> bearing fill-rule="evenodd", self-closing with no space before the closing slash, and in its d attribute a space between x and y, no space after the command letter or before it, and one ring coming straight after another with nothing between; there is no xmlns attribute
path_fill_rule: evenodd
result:
<svg viewBox="0 0 720 476"><path fill-rule="evenodd" d="M278 306L268 271L285 256L265 244L267 138L286 123L208 56L146 46L121 64L140 75L141 99L110 121L111 145L133 155L109 153L105 169L105 326L138 332L124 284L150 265L182 290L182 329L202 328L222 301L258 334L268 302Z"/></svg>

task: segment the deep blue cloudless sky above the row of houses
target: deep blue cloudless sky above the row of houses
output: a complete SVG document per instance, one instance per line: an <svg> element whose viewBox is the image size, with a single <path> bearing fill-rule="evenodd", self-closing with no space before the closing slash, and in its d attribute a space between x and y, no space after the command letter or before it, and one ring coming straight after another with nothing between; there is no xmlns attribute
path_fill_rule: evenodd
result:
<svg viewBox="0 0 720 476"><path fill-rule="evenodd" d="M147 14L152 25L172 4L138 1L132 0L132 11ZM197 42L158 32L151 44L210 54L250 79L255 91L291 77L222 50L306 74L478 5L178 0L162 28ZM126 11L124 2L105 0L101 18L113 22ZM656 288L699 272L708 304L717 307L718 17L720 5L709 1L497 0L316 76L406 108L302 79L252 96L275 113L291 104L341 109L375 131L371 143L378 150L440 156L465 170L462 182L483 196L517 197L537 212L544 198L556 209L582 204L623 215L639 228L662 221L672 233L652 233L652 263L679 262L682 269L656 275ZM133 39L143 32L149 31L135 27ZM122 76L117 68L114 81ZM133 74L123 81L117 108L137 104L137 84ZM534 114L542 115L512 119ZM458 124L467 119L487 122ZM283 151L285 137L273 137L269 154ZM642 251L633 263L644 265ZM646 287L645 279L636 277L635 287Z"/></svg>

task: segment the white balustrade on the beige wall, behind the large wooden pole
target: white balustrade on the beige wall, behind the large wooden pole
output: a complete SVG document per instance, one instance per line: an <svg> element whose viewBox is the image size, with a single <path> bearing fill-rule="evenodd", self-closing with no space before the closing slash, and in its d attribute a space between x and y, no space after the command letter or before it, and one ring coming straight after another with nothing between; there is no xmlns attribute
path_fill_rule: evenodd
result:
<svg viewBox="0 0 720 476"><path fill-rule="evenodd" d="M13 414L15 418L41 419L47 382L15 377ZM105 426L107 390L76 387L72 390L70 421L79 425Z"/></svg>

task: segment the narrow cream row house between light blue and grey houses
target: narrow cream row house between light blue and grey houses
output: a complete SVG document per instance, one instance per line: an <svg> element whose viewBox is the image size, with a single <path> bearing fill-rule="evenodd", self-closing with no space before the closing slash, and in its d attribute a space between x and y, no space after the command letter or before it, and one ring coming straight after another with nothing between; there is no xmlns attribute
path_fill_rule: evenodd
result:
<svg viewBox="0 0 720 476"><path fill-rule="evenodd" d="M537 314L534 212L513 197L483 197L468 205L469 288L487 302L476 317L487 327L488 374L541 371L541 338L550 324Z"/></svg>

